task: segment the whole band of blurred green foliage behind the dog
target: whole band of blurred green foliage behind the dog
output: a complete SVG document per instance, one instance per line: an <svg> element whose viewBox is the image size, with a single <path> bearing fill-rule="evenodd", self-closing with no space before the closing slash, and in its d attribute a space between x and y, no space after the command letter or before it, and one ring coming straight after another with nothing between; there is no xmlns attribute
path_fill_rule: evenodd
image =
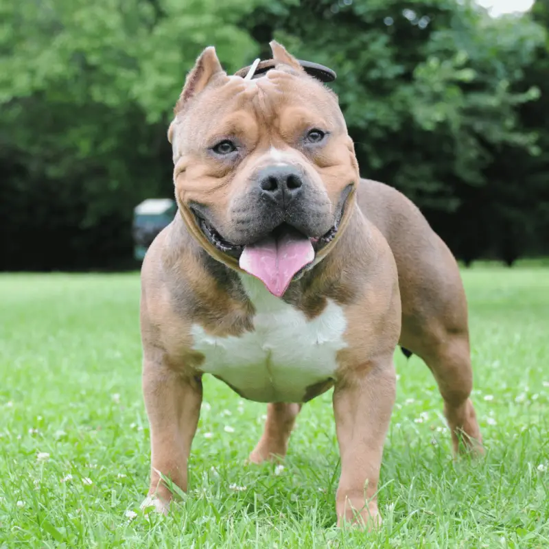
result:
<svg viewBox="0 0 549 549"><path fill-rule="evenodd" d="M460 257L541 251L547 14L540 2L532 18L494 20L456 0L4 0L0 268L129 259L132 207L172 194L166 128L194 59L214 44L235 71L273 37L336 69L362 174L417 202Z"/></svg>

